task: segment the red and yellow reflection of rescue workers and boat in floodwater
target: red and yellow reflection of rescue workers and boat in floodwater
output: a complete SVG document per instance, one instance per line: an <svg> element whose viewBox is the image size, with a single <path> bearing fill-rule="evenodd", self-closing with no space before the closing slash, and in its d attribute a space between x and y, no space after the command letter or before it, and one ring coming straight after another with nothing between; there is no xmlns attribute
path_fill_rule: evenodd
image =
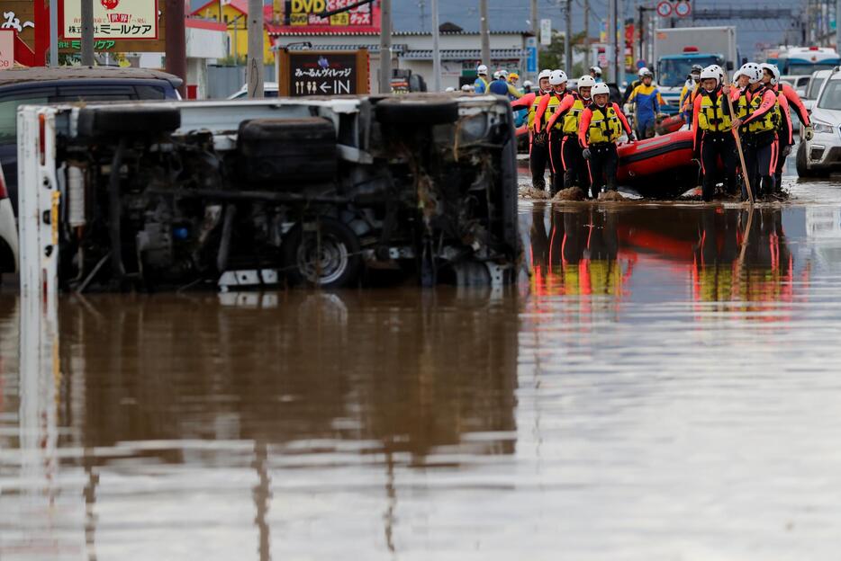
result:
<svg viewBox="0 0 841 561"><path fill-rule="evenodd" d="M583 311L619 309L641 259L685 275L696 302L742 311L791 302L794 281L809 278L807 267L795 279L779 208L536 207L530 237L535 294L610 297L584 298Z"/></svg>

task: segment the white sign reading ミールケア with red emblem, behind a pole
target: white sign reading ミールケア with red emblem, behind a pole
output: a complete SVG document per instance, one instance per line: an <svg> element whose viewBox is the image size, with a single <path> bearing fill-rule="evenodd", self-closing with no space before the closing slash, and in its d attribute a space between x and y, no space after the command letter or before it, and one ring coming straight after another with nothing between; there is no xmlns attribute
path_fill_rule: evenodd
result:
<svg viewBox="0 0 841 561"><path fill-rule="evenodd" d="M82 3L59 4L60 34L64 39L82 38ZM158 39L158 0L94 0L96 40Z"/></svg>

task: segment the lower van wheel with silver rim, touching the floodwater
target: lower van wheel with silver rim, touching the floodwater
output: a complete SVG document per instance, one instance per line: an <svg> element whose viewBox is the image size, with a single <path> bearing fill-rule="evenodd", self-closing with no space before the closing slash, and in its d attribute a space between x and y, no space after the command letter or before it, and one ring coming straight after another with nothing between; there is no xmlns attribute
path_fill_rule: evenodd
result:
<svg viewBox="0 0 841 561"><path fill-rule="evenodd" d="M353 286L363 269L357 235L334 218L319 218L307 227L295 226L281 251L293 285L340 289Z"/></svg>

